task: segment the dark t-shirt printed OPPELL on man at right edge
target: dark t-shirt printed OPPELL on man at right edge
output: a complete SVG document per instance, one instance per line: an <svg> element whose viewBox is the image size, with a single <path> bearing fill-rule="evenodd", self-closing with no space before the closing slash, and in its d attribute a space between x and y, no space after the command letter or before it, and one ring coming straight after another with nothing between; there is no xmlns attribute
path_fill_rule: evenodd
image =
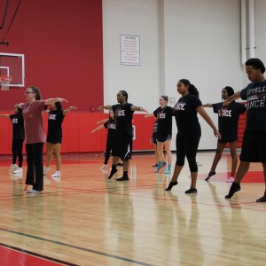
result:
<svg viewBox="0 0 266 266"><path fill-rule="evenodd" d="M266 131L266 81L249 83L240 97L246 100L246 129Z"/></svg>

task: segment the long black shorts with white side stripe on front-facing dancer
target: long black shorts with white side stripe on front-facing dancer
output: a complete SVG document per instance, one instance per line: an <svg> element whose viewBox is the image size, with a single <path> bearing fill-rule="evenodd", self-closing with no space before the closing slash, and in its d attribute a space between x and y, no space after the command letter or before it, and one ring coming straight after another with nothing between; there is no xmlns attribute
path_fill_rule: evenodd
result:
<svg viewBox="0 0 266 266"><path fill-rule="evenodd" d="M130 159L131 144L132 144L132 136L116 135L113 140L112 155L121 158L121 160Z"/></svg>

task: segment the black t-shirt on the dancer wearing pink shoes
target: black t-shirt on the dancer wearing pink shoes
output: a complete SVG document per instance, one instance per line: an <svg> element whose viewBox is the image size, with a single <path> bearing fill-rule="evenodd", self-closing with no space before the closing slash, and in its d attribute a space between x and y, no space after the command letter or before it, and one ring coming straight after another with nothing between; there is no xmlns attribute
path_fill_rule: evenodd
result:
<svg viewBox="0 0 266 266"><path fill-rule="evenodd" d="M214 113L218 113L218 126L222 139L237 140L240 113L245 113L246 107L235 101L228 106L223 103L213 105Z"/></svg>

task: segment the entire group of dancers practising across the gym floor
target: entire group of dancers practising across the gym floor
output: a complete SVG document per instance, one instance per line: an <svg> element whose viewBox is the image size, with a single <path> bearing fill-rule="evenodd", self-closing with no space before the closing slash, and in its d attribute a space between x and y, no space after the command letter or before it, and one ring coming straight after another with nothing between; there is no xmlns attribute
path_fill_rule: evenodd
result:
<svg viewBox="0 0 266 266"><path fill-rule="evenodd" d="M198 119L198 113L213 129L215 137L218 138L215 158L212 167L206 177L209 181L211 176L215 176L215 168L221 159L223 149L229 144L231 150L231 176L227 182L232 183L231 189L226 199L231 199L235 192L240 190L240 182L246 175L250 162L262 162L264 180L266 184L266 81L264 77L265 66L260 59L248 59L246 61L246 74L251 83L244 90L234 93L234 90L226 86L222 90L222 102L216 104L202 105L197 88L186 79L177 82L176 89L181 95L174 107L168 106L168 97L161 96L160 106L153 113L146 114L145 117L154 116L155 123L153 129L153 144L157 162L154 165L156 172L166 165L163 149L167 153L167 168L165 174L172 171L172 154L170 151L170 142L172 139L172 117L176 119L176 164L171 181L166 191L178 184L177 180L184 168L185 158L188 160L191 172L191 185L185 193L197 193L198 165L196 155L200 143L201 129ZM29 193L43 191L43 174L47 174L50 169L52 151L56 154L57 171L53 175L60 176L60 145L62 142L61 124L66 113L76 109L74 106L62 110L61 102L64 98L51 98L42 100L40 91L36 87L28 87L26 92L27 103L14 106L14 114L1 116L10 117L13 124L13 142L12 142L12 166L10 171L13 173L22 172L22 144L24 135L26 139L27 151L27 179L28 185L32 185ZM123 174L117 178L117 181L129 180L129 159L132 152L132 118L133 113L145 112L143 107L134 106L128 103L128 93L120 90L117 93L116 105L99 106L99 109L109 110L109 118L103 122L97 129L108 129L106 142L106 158L102 168L106 168L107 162L112 150L113 164L108 178L112 178L117 172L117 166L122 160ZM236 99L246 100L246 105L235 102ZM45 136L43 127L43 111L45 106L51 106L49 111L48 135ZM218 113L218 127L216 129L214 122L207 114L205 107L212 107L215 113ZM238 122L239 114L246 112L246 130L243 137L242 150L240 154L240 163L235 176L238 156ZM24 121L24 129L22 127ZM20 126L19 126L20 124ZM43 169L43 144L47 143L47 160ZM17 155L19 157L19 166L16 165ZM266 190L262 198L257 202L266 202Z"/></svg>

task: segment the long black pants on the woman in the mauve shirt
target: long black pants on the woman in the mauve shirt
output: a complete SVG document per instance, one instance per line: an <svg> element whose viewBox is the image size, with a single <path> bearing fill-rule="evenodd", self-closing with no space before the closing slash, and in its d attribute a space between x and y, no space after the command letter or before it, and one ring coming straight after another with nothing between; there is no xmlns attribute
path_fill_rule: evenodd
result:
<svg viewBox="0 0 266 266"><path fill-rule="evenodd" d="M43 143L26 145L27 178L35 191L43 191Z"/></svg>

